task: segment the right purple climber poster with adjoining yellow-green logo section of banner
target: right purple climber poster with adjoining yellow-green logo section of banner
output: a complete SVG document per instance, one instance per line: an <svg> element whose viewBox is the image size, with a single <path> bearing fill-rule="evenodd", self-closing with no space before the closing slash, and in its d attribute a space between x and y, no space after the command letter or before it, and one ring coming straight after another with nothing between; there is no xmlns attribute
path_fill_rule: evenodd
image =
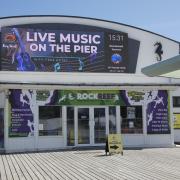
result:
<svg viewBox="0 0 180 180"><path fill-rule="evenodd" d="M121 98L128 106L143 105L146 109L147 133L169 134L170 118L168 91L120 91Z"/></svg>

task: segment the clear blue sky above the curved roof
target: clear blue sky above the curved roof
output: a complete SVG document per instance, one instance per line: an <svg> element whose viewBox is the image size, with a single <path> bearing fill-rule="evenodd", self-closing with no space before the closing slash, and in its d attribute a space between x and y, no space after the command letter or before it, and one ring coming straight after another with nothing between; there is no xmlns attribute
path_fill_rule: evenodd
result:
<svg viewBox="0 0 180 180"><path fill-rule="evenodd" d="M18 15L99 18L180 41L180 0L0 0L0 17Z"/></svg>

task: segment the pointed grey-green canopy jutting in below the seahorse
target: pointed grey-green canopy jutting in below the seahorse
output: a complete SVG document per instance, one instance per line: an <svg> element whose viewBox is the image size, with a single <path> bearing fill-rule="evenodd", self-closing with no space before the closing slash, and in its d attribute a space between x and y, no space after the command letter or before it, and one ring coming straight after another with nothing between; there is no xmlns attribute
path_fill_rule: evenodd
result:
<svg viewBox="0 0 180 180"><path fill-rule="evenodd" d="M180 78L180 55L141 69L147 76Z"/></svg>

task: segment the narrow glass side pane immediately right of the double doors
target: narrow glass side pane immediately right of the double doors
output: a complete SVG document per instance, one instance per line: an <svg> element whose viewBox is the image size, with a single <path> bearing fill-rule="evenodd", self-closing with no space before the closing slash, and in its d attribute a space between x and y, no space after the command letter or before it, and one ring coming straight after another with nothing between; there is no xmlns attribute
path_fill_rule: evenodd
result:
<svg viewBox="0 0 180 180"><path fill-rule="evenodd" d="M116 133L116 107L115 106L109 107L109 133L110 134Z"/></svg>

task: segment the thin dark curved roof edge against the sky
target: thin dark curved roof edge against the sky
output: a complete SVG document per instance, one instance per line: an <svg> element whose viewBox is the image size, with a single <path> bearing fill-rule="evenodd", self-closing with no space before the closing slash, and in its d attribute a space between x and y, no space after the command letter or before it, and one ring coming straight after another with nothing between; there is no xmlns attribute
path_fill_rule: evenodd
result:
<svg viewBox="0 0 180 180"><path fill-rule="evenodd" d="M81 19L87 19L87 20L96 20L96 21L101 21L101 22L114 23L114 24L117 24L117 25L123 25L123 26L131 27L131 28L135 28L135 29L138 29L138 30L141 30L141 31L145 31L145 32L148 32L148 33L151 33L151 34L154 34L154 35L158 35L160 37L163 37L165 39L168 39L168 40L171 40L171 41L174 41L174 42L180 44L179 41L176 41L174 39L171 39L171 38L168 38L166 36L160 35L158 33L154 33L152 31L148 31L148 30L145 30L145 29L142 29L142 28L139 28L139 27L135 27L135 26L132 26L132 25L124 24L124 23L114 22L114 21L110 21L110 20L103 20L103 19L98 19L98 18L89 18L89 17L81 17L81 16L66 16L66 15L25 15L25 16L0 17L0 20L1 19L11 19L11 18L23 18L23 17L67 17L67 18L81 18Z"/></svg>

